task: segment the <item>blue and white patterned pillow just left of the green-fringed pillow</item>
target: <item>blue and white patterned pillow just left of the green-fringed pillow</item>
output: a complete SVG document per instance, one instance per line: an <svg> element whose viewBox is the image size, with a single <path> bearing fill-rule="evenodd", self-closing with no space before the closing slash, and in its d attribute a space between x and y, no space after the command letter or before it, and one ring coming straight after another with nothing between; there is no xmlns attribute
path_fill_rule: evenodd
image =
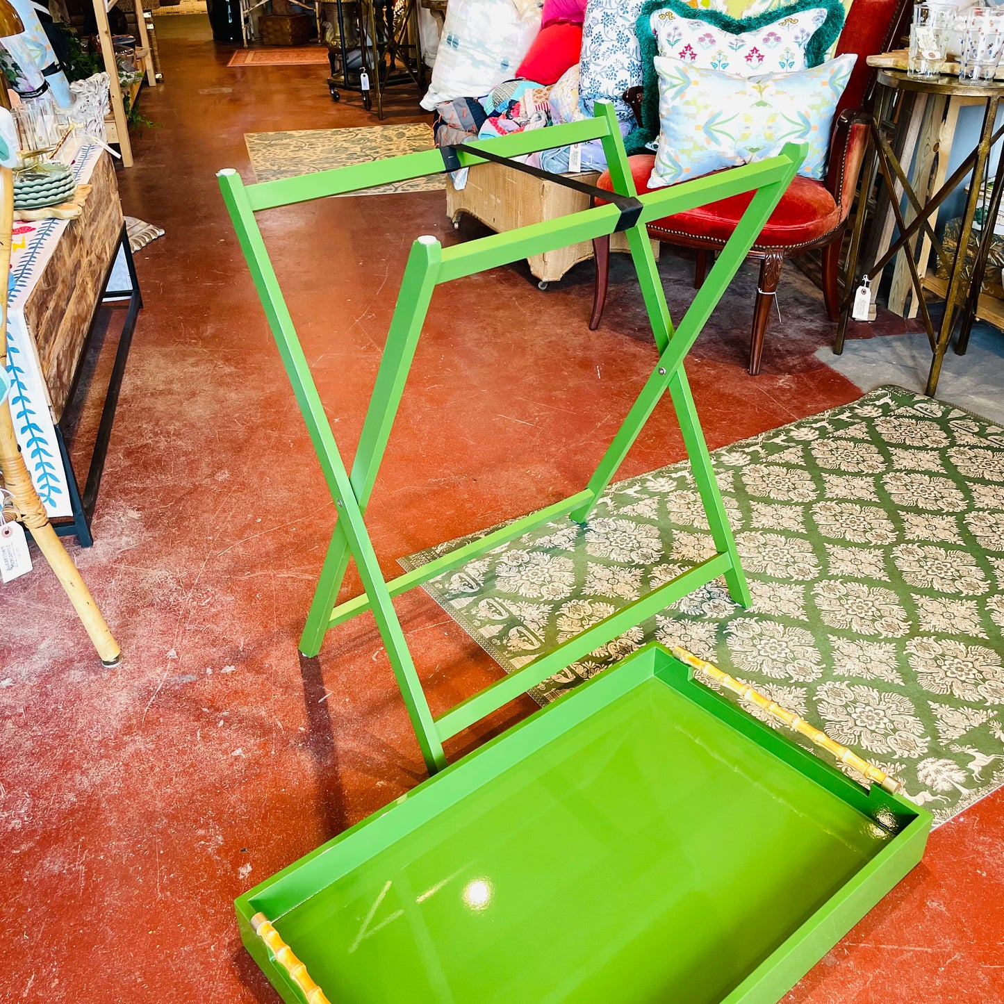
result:
<svg viewBox="0 0 1004 1004"><path fill-rule="evenodd" d="M642 84L642 51L635 22L645 0L589 0L582 24L579 59L579 101L592 114L592 102L613 102L617 117L634 117L621 94Z"/></svg>

